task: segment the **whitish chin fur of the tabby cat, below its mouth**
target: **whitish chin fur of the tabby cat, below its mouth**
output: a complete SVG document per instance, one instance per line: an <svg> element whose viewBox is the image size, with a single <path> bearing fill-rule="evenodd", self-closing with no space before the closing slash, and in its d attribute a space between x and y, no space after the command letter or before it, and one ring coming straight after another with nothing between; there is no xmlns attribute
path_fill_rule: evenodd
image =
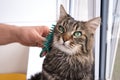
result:
<svg viewBox="0 0 120 80"><path fill-rule="evenodd" d="M68 47L65 46L63 44L55 44L54 47L56 47L57 49L59 49L60 51L68 54L68 55L73 55L77 53L78 47L74 46L74 47Z"/></svg>

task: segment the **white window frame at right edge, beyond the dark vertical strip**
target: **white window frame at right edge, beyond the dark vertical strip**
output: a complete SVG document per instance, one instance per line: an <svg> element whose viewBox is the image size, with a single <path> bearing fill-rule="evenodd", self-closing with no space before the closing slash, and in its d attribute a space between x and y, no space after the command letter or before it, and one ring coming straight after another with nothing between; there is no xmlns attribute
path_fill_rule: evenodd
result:
<svg viewBox="0 0 120 80"><path fill-rule="evenodd" d="M106 66L106 78L110 80L119 80L120 74L119 68L119 50L118 40L120 34L120 1L109 1L109 17L108 17L108 33L107 33L107 66ZM118 47L117 47L118 46ZM116 62L118 61L118 62ZM116 64L117 63L117 64ZM116 71L118 70L118 71ZM113 72L114 71L114 72ZM116 72L115 72L116 71ZM113 74L114 73L114 74Z"/></svg>

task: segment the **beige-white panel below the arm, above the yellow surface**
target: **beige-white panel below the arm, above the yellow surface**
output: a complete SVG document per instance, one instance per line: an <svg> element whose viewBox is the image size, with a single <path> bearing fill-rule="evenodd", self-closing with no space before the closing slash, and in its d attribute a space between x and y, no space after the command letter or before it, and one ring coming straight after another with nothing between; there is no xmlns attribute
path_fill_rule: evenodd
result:
<svg viewBox="0 0 120 80"><path fill-rule="evenodd" d="M26 73L28 48L14 43L0 46L0 73Z"/></svg>

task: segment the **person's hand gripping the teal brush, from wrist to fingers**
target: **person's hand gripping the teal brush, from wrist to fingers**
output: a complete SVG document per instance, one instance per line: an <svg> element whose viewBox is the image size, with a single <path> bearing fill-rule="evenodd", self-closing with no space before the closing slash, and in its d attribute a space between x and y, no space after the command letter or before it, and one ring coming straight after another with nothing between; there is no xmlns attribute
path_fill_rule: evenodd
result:
<svg viewBox="0 0 120 80"><path fill-rule="evenodd" d="M49 28L47 26L19 27L17 33L17 42L22 45L43 47Z"/></svg>

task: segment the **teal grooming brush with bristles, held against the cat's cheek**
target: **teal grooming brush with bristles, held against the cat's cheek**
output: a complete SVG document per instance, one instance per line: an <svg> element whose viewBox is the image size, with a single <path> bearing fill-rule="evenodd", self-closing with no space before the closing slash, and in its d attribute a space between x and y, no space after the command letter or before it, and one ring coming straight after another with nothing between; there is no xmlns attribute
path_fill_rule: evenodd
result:
<svg viewBox="0 0 120 80"><path fill-rule="evenodd" d="M44 47L42 48L42 51L40 53L40 57L45 56L48 52L50 52L52 48L52 41L53 41L53 33L54 33L54 27L55 25L52 25L50 29L50 33L46 37L46 41L44 42Z"/></svg>

